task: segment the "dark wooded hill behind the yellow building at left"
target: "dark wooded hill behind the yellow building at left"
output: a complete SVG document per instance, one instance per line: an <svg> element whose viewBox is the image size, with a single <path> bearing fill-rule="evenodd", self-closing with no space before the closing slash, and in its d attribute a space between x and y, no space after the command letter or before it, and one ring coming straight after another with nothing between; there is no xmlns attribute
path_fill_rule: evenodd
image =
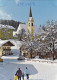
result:
<svg viewBox="0 0 57 80"><path fill-rule="evenodd" d="M25 23L22 23L20 21L15 21L15 20L1 20L0 19L0 24L10 25L10 26L13 26L15 29L17 29L19 24L25 24Z"/></svg>

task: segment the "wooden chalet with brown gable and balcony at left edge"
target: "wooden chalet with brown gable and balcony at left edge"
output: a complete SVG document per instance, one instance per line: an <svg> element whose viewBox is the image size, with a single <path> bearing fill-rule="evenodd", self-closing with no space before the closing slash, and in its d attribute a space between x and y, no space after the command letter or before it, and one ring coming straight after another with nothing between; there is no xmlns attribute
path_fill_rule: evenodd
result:
<svg viewBox="0 0 57 80"><path fill-rule="evenodd" d="M11 47L14 46L14 44L9 40L0 40L0 56L3 55L10 55Z"/></svg>

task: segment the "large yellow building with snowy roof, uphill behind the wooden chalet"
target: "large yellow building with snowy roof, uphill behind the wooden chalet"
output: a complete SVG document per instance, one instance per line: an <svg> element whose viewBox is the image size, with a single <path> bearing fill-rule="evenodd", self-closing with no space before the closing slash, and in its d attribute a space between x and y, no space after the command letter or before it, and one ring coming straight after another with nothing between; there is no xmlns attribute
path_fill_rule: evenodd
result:
<svg viewBox="0 0 57 80"><path fill-rule="evenodd" d="M0 39L13 39L13 30L15 30L15 28L12 26L0 24Z"/></svg>

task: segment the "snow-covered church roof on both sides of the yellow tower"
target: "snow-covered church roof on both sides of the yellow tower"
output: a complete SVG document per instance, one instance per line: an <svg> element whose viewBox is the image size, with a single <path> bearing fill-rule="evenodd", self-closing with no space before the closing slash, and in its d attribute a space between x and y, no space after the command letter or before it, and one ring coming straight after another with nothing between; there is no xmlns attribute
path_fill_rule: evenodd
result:
<svg viewBox="0 0 57 80"><path fill-rule="evenodd" d="M27 24L19 24L17 29L17 34L20 33L21 29L25 29L25 33L28 34L28 25ZM42 33L45 33L45 31L42 29L42 27L34 26L34 35L41 35Z"/></svg>

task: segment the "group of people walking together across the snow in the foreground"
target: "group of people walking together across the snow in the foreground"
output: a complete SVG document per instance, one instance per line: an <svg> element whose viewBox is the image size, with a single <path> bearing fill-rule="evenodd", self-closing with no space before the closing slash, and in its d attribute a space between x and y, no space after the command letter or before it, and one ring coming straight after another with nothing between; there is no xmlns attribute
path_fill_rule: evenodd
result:
<svg viewBox="0 0 57 80"><path fill-rule="evenodd" d="M21 69L19 68L14 76L14 80L17 80L17 79L21 80L21 77L24 80L25 75L26 75L26 78L29 79L29 74L30 74L30 71L27 67L26 67L25 73L22 72Z"/></svg>

